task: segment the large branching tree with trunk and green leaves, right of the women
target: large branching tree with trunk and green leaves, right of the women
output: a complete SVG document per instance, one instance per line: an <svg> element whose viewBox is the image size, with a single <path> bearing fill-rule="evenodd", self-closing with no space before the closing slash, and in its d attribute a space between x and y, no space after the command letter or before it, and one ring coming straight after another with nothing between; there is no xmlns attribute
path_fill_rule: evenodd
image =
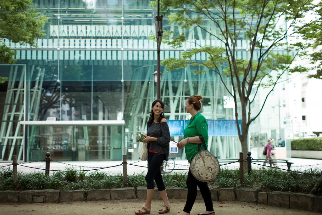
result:
<svg viewBox="0 0 322 215"><path fill-rule="evenodd" d="M192 31L201 32L200 40L220 41L218 46L195 44L196 48L181 52L178 59L168 58L162 64L168 71L193 65L199 68L195 73L210 71L219 75L234 98L239 139L242 151L247 152L249 125L259 116L282 75L308 71L301 65L291 65L296 57L308 56L308 49L314 44L312 40L317 37L314 28L321 29L321 22L305 17L309 13L318 17L321 2L316 5L312 0L159 0L159 3L169 23L179 26L179 30L165 32L164 43L174 48L196 43L187 40ZM238 45L241 40L247 41L243 50ZM247 57L239 57L240 51L245 51ZM200 53L205 53L207 59L193 57ZM226 85L227 78L232 86ZM251 114L251 103L260 87L270 87L270 91L260 111ZM241 129L238 119L242 119Z"/></svg>

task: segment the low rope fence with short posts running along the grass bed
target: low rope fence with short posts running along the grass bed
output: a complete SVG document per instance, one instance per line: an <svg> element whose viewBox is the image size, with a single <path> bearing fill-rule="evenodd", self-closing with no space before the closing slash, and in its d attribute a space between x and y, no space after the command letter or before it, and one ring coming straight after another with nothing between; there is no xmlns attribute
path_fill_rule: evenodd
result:
<svg viewBox="0 0 322 215"><path fill-rule="evenodd" d="M8 166L13 166L13 176L14 176L14 185L17 185L18 183L18 170L17 170L17 166L23 166L23 167L27 167L27 168L31 168L31 169L37 169L37 170L44 170L45 171L45 175L49 175L50 171L62 171L62 172L80 172L80 171L97 171L97 170L103 170L103 169L108 169L108 168L113 168L113 167L119 167L119 166L123 166L123 184L124 187L127 187L128 181L128 174L127 174L127 165L131 165L131 166L137 166L137 167L141 167L141 168L148 168L148 166L141 166L141 165L137 165L135 163L139 163L141 161L136 161L133 163L128 163L127 162L127 156L123 155L123 160L120 164L118 165L114 165L114 166L106 166L106 167L90 167L90 166L80 166L80 165L72 165L72 164L68 164L68 163L63 163L60 161L54 161L50 158L50 152L46 152L46 158L39 160L39 161L45 161L46 165L45 165L45 169L42 168L37 168L37 167L31 167L31 166L26 166L23 164L28 164L28 163L33 163L33 162L39 162L39 161L30 161L30 162L24 162L24 163L17 163L17 156L13 155L13 163L12 164L4 164L4 165L0 165L0 168L4 168L4 167L8 167ZM302 173L302 174L308 174L308 175L313 175L316 176L315 174L312 173L308 173L308 172L300 172L300 171L293 171L290 170L291 165L293 164L292 162L289 162L288 160L282 160L282 159L253 159L251 158L251 152L247 152L248 157L247 158L243 158L243 153L240 152L239 154L239 160L237 161L229 161L229 160L219 160L219 162L225 162L223 164L220 164L220 166L225 166L225 165L229 165L232 163L237 163L239 162L239 168L240 168L240 183L243 184L244 182L244 166L247 166L247 172L248 174L251 174L251 165L258 165L261 166L262 169L264 169L264 167L269 167L269 168L273 168L273 169L280 169L280 170L284 170L284 171L291 171L291 172L297 172L297 173ZM75 166L75 167L80 167L80 168L89 168L89 169L83 169L83 170L51 170L50 169L50 162L57 162L57 163L61 163L61 164L65 164L65 165L69 165L69 166ZM263 164L260 164L261 162L263 162ZM285 162L286 165L282 165L279 164L279 166L284 166L287 167L287 169L282 169L279 167L274 167L274 165L276 165L277 162ZM189 165L184 165L184 164L175 164L175 163L170 163L169 164L172 165L180 165L180 166L189 166ZM246 163L246 164L245 164ZM269 163L269 166L266 166L266 164ZM306 166L316 166L316 165L320 165L320 164L313 164L313 165L306 165ZM304 166L293 166L293 167L304 167ZM187 169L175 169L175 168L163 168L163 170L189 170L189 168Z"/></svg>

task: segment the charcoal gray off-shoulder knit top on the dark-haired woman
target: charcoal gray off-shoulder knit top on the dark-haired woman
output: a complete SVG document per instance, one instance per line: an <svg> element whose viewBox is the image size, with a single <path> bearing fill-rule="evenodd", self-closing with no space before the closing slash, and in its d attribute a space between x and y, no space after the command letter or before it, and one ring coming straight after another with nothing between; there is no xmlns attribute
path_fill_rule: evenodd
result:
<svg viewBox="0 0 322 215"><path fill-rule="evenodd" d="M168 123L152 122L150 127L147 124L147 136L157 138L157 141L148 142L147 148L153 149L159 153L165 152L166 161L167 161L169 157L169 142L170 142L170 131L169 131Z"/></svg>

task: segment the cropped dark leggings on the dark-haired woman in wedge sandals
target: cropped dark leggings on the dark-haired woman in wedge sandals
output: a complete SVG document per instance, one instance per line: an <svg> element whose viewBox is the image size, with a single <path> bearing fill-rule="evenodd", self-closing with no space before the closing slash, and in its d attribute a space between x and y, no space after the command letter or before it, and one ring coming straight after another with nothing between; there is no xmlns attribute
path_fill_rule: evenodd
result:
<svg viewBox="0 0 322 215"><path fill-rule="evenodd" d="M154 189L153 179L156 181L156 186L158 191L166 190L166 186L163 183L161 174L161 164L165 159L165 154L158 154L153 152L148 152L147 163L149 164L149 169L147 170L147 175L145 180L147 181L147 189Z"/></svg>

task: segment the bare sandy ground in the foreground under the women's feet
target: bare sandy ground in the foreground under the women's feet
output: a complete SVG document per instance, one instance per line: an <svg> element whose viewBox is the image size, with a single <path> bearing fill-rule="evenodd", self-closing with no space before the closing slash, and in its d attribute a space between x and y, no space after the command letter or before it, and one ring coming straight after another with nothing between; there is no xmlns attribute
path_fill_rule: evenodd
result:
<svg viewBox="0 0 322 215"><path fill-rule="evenodd" d="M182 211L185 200L170 199L171 209L167 215L178 214ZM83 201L83 202L64 202L64 203L33 203L33 204L0 204L0 214L23 214L23 215L43 215L43 214L86 214L86 215L134 215L145 203L144 200L110 200L110 201ZM158 214L162 208L162 200L153 200L150 214ZM304 214L322 214L304 210L294 210L278 207L270 207L262 204L243 203L239 201L232 202L213 202L216 215L304 215ZM205 210L204 201L196 200L191 214L201 213Z"/></svg>

